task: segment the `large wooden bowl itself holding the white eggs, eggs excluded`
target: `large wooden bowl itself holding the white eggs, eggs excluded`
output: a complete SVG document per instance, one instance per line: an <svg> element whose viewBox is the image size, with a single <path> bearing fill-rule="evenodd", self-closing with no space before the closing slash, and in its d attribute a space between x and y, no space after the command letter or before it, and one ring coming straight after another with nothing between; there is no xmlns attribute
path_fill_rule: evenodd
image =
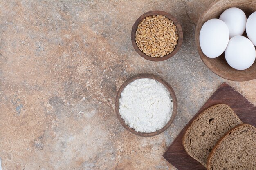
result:
<svg viewBox="0 0 256 170"><path fill-rule="evenodd" d="M200 16L196 29L195 29L195 41L198 49L198 53L204 62L204 64L216 75L233 80L233 81L248 81L256 79L256 62L246 70L236 70L229 66L225 60L224 53L217 58L208 58L202 52L199 43L199 34L203 24L212 18L219 18L220 14L230 7L238 7L242 9L247 18L251 13L256 11L256 1L255 0L216 0L212 2L204 13ZM247 37L246 32L243 34Z"/></svg>

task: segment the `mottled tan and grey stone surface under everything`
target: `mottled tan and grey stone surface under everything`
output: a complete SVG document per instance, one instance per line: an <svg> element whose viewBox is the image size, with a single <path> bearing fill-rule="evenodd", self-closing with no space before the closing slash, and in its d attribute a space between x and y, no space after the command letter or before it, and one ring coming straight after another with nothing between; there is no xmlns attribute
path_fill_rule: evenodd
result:
<svg viewBox="0 0 256 170"><path fill-rule="evenodd" d="M256 104L256 80L209 71L195 47L195 23L212 0L0 1L0 157L3 170L176 170L162 157L222 82ZM180 51L150 62L130 31L151 10L182 24ZM173 124L155 137L121 126L115 95L132 75L153 73L177 95Z"/></svg>

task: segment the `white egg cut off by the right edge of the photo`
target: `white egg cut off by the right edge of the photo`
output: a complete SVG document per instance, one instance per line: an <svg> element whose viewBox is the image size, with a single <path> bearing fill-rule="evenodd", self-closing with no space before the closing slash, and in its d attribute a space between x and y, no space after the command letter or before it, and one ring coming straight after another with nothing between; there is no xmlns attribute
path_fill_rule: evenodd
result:
<svg viewBox="0 0 256 170"><path fill-rule="evenodd" d="M252 13L246 22L246 33L249 40L256 46L256 12Z"/></svg>

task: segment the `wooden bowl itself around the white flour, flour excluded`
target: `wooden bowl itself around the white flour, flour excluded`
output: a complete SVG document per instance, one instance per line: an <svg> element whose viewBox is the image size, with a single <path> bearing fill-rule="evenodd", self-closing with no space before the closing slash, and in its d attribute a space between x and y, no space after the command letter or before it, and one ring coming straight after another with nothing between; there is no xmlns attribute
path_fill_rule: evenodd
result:
<svg viewBox="0 0 256 170"><path fill-rule="evenodd" d="M137 132L134 129L130 128L122 119L120 113L119 113L119 98L121 96L121 92L124 90L124 88L131 82L133 82L136 79L141 79L141 78L150 78L150 79L155 79L158 82L162 83L167 90L169 91L172 99L173 99L173 113L171 115L170 120L168 121L168 123L160 130L157 130L156 132L151 132L151 133L141 133L141 132ZM162 132L164 132L164 130L166 130L169 126L171 126L173 119L175 118L176 114L177 114L177 98L176 95L173 91L173 88L170 86L170 84L168 84L166 81L164 81L163 79L161 79L160 77L157 77L156 75L152 75L152 74L139 74L139 75L135 75L133 77L130 77L129 79L127 79L119 88L118 92L117 92L117 97L116 97L116 101L115 101L115 111L117 114L117 118L120 121L120 123L124 126L124 128L126 128L127 130L129 130L130 132L132 132L135 135L139 135L139 136L144 136L144 137L150 137L150 136L155 136L158 135Z"/></svg>

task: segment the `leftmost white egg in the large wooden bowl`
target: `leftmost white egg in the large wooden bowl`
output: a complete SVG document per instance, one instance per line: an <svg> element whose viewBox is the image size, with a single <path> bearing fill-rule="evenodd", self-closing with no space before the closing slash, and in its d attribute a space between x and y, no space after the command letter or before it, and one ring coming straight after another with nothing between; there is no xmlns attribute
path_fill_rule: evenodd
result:
<svg viewBox="0 0 256 170"><path fill-rule="evenodd" d="M225 22L211 19L204 23L199 35L200 47L209 58L220 56L229 42L229 29Z"/></svg>

